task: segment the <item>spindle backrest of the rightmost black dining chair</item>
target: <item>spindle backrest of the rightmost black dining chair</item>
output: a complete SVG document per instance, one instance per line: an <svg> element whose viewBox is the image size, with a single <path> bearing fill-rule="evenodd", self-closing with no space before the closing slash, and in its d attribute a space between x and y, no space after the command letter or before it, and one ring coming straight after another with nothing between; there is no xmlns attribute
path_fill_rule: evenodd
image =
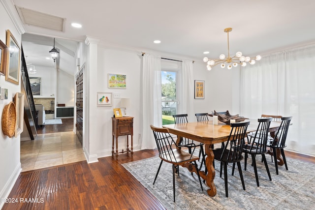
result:
<svg viewBox="0 0 315 210"><path fill-rule="evenodd" d="M283 117L281 119L281 125L275 135L275 138L273 139L272 142L272 147L277 147L277 148L284 148L285 147L285 141L286 141L286 136L287 136L287 131L289 129L290 122L292 120L291 117Z"/></svg>

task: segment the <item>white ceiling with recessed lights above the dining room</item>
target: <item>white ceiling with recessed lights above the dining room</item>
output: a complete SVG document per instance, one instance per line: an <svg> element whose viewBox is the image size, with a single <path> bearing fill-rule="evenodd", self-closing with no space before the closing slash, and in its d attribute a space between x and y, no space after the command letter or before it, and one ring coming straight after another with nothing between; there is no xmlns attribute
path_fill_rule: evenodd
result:
<svg viewBox="0 0 315 210"><path fill-rule="evenodd" d="M296 0L54 0L48 4L43 0L13 0L13 3L17 8L64 20L63 31L25 24L29 34L22 36L22 44L27 62L31 57L49 57L52 37L56 37L56 47L62 50L60 66L66 54L74 53L77 42L84 41L86 36L99 38L102 45L159 51L200 61L204 51L210 52L207 55L210 58L227 54L227 34L223 30L228 27L233 28L229 33L230 54L241 51L243 55L255 56L315 43L314 0L303 3ZM82 24L82 28L71 27L73 22ZM47 42L35 43L36 39L47 39ZM153 43L156 39L161 43ZM36 52L36 49L41 50ZM32 59L32 64L36 62ZM52 60L45 62L48 63L45 65L54 65Z"/></svg>

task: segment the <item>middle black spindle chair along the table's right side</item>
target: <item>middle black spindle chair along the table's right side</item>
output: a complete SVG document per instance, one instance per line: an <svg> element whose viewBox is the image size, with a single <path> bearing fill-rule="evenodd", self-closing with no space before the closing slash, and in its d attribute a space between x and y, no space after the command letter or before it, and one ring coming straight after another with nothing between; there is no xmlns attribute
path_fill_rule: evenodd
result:
<svg viewBox="0 0 315 210"><path fill-rule="evenodd" d="M257 165L256 165L256 155L261 154L262 160L265 164L269 180L271 180L267 160L265 153L267 152L267 140L268 132L272 118L261 118L258 119L258 126L255 134L252 137L248 136L248 143L244 145L243 152L245 153L244 160L244 170L246 171L248 154L252 156L252 166L254 167L255 178L257 186L259 187ZM233 164L234 171L235 164ZM233 175L233 172L232 172Z"/></svg>

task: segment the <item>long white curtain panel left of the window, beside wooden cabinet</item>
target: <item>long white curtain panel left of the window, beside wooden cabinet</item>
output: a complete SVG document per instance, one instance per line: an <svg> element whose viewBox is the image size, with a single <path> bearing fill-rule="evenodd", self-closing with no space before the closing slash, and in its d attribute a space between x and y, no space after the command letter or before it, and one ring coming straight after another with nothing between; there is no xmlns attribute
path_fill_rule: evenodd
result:
<svg viewBox="0 0 315 210"><path fill-rule="evenodd" d="M142 72L142 150L157 147L150 124L162 126L161 96L161 58L145 54Z"/></svg>

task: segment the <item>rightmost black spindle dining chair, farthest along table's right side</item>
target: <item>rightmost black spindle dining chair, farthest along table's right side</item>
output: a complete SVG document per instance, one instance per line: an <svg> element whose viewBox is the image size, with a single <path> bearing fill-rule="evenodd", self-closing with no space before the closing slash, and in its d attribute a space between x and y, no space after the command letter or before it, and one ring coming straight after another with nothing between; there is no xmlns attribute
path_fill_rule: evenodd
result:
<svg viewBox="0 0 315 210"><path fill-rule="evenodd" d="M285 160L285 155L284 155L284 148L286 147L285 141L286 141L287 131L289 129L289 125L290 125L291 120L292 120L292 116L291 117L282 117L281 118L281 125L280 125L279 129L277 130L275 137L272 140L267 142L267 147L270 147L271 150L273 151L277 175L279 174L277 150L280 150L282 158L284 160L285 169L288 170L286 160Z"/></svg>

